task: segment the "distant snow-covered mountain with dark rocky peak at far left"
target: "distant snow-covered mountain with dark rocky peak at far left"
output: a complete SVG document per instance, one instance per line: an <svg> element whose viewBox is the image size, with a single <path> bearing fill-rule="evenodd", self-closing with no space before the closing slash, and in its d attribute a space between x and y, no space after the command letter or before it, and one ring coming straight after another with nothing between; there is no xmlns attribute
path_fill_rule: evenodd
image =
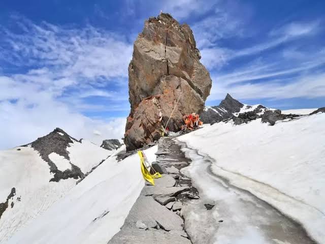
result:
<svg viewBox="0 0 325 244"><path fill-rule="evenodd" d="M40 216L114 151L76 141L60 129L27 146L0 151L0 243Z"/></svg>

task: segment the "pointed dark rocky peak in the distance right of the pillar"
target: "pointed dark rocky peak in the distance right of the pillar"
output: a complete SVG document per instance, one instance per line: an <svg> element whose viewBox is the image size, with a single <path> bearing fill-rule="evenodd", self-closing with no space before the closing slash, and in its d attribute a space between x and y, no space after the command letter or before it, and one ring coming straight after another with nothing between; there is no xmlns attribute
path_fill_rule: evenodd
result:
<svg viewBox="0 0 325 244"><path fill-rule="evenodd" d="M244 104L227 94L218 106L206 106L200 114L200 119L204 124L218 123L224 119L232 118L233 113L238 113L242 107Z"/></svg>

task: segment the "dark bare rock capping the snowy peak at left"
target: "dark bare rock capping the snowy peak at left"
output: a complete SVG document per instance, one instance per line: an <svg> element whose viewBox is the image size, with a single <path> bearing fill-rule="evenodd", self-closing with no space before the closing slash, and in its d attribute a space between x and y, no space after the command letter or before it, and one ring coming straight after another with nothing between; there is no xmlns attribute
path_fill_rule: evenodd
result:
<svg viewBox="0 0 325 244"><path fill-rule="evenodd" d="M30 143L31 147L40 153L41 158L50 166L50 172L53 173L53 178L50 181L59 181L60 179L68 178L82 178L83 173L80 168L72 163L71 169L60 171L56 165L49 159L51 153L56 153L67 160L70 160L67 147L69 143L80 143L73 137L69 136L66 132L60 128L56 128L50 134L38 138L36 141Z"/></svg>

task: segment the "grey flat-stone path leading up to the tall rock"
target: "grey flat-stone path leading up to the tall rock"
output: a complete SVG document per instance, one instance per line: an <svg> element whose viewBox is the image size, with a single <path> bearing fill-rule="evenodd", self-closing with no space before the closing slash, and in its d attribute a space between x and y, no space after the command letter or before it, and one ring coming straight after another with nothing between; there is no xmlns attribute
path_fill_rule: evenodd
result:
<svg viewBox="0 0 325 244"><path fill-rule="evenodd" d="M180 172L189 165L172 138L160 138L153 167L163 173L155 186L145 185L121 230L108 242L192 243L184 230L182 208L199 199L191 180Z"/></svg>

